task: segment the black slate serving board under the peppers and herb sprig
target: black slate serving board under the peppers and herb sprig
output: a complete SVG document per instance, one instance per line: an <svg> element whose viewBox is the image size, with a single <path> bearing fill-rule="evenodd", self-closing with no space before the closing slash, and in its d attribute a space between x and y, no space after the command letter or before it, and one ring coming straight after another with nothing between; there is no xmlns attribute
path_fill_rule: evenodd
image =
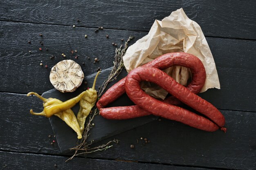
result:
<svg viewBox="0 0 256 170"><path fill-rule="evenodd" d="M112 67L101 71L95 86L96 90L101 84L103 84L104 80L107 79L111 69ZM75 97L76 95L84 91L86 87L92 87L95 75L96 73L85 77L84 80L87 81L88 84L86 86L84 84L81 85L74 93L61 93L56 89L52 89L43 93L43 97L45 98L53 97L53 98L60 99L61 101L66 101L67 99ZM126 75L127 75L127 72L125 70L121 71L117 79L110 82L106 89L108 89L110 86L118 82L121 78L125 77ZM134 105L134 104L127 97L127 95L123 95L117 101L113 102L109 106L111 107L111 106L130 106L130 105ZM75 114L78 113L79 104L76 104L76 106L74 106L72 110L74 111ZM108 120L108 119L104 119L100 115L96 115L93 121L95 126L90 130L90 136L88 137L88 141L94 140L94 142L97 142L102 139L106 139L107 137L117 135L126 130L130 130L132 128L141 126L155 119L157 119L157 117L150 115L150 116L138 117L135 119L128 119L128 120ZM50 117L49 120L52 125L54 134L56 135L56 140L58 141L58 146L61 152L68 152L70 151L69 150L70 148L73 148L74 146L76 146L78 139L77 139L76 132L74 132L72 128L67 126L64 121L62 121L56 116Z"/></svg>

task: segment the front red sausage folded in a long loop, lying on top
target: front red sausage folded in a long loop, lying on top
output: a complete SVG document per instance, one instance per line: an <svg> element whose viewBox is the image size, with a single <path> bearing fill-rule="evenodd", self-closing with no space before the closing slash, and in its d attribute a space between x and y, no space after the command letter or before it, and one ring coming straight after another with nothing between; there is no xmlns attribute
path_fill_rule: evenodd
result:
<svg viewBox="0 0 256 170"><path fill-rule="evenodd" d="M220 127L224 126L225 118L216 107L198 95L195 95L157 68L141 66L132 70L126 77L126 93L132 102L140 108L157 116L166 117L166 115L168 115L168 119L180 121L202 130L214 131L214 129L216 129L216 126L213 126L213 122L202 116L196 115L184 108L160 102L147 95L140 88L139 83L141 81L153 82L161 86L184 104L207 116L215 123L214 125L217 124Z"/></svg>

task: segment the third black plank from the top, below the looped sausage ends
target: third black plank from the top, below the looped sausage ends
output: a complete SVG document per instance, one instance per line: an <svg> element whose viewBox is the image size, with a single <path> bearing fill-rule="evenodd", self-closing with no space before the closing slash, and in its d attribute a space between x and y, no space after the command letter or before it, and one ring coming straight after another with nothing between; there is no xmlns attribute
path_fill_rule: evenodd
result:
<svg viewBox="0 0 256 170"><path fill-rule="evenodd" d="M41 110L35 97L0 93L0 149L19 152L60 154L48 119L29 114ZM113 138L119 144L87 157L167 163L213 168L254 169L256 167L256 113L220 110L226 118L227 133L204 132L162 119L134 128ZM95 122L96 123L96 122ZM97 124L97 123L96 123ZM140 138L150 140L143 145ZM138 139L138 143L137 143ZM134 144L135 148L130 148ZM96 145L96 144L95 144Z"/></svg>

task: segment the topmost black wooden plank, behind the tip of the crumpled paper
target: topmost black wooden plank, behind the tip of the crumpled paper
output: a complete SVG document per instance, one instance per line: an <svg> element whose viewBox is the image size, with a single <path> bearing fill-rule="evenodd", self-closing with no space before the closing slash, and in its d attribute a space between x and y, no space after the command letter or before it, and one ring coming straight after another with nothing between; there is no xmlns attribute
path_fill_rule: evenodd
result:
<svg viewBox="0 0 256 170"><path fill-rule="evenodd" d="M148 31L155 19L162 20L180 8L198 22L205 35L256 39L254 0L1 1L0 20Z"/></svg>

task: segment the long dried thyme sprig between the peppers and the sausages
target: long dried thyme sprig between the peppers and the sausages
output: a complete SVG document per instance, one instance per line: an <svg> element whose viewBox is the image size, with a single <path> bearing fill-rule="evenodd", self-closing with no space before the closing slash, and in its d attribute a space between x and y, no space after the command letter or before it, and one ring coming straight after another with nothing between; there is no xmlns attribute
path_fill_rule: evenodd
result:
<svg viewBox="0 0 256 170"><path fill-rule="evenodd" d="M130 36L128 38L128 40L125 42L124 48L122 48L123 46L120 45L119 48L116 49L115 51L115 60L113 62L114 66L110 72L110 74L108 75L108 78L103 82L103 84L101 85L101 88L99 89L99 93L98 96L101 97L101 95L103 95L104 90L106 89L107 85L109 82L113 81L114 79L117 78L117 76L119 75L119 73L122 71L122 69L124 68L124 61L123 61L123 56L126 53L126 50L128 49L128 42L134 38L133 36ZM92 152L96 152L96 151L102 151L102 150L106 150L108 148L111 148L113 145L112 143L118 143L117 139L113 139L112 141L109 141L106 144L97 146L97 147L93 147L90 148L90 145L92 144L93 141L90 141L90 143L88 143L86 141L86 139L88 139L90 133L90 129L92 128L92 120L94 119L94 117L98 114L98 109L95 108L93 113L91 113L90 117L89 117L89 121L86 125L86 128L83 132L83 137L80 141L80 144L77 144L76 147L71 148L70 150L75 150L74 155L72 157L70 157L68 160L72 159L75 156L78 155L83 155L83 154L87 154L87 153L92 153ZM81 152L79 152L81 151ZM79 153L78 153L79 152Z"/></svg>

